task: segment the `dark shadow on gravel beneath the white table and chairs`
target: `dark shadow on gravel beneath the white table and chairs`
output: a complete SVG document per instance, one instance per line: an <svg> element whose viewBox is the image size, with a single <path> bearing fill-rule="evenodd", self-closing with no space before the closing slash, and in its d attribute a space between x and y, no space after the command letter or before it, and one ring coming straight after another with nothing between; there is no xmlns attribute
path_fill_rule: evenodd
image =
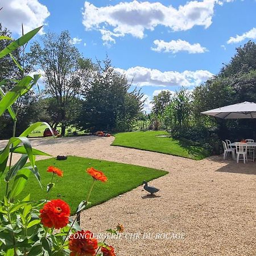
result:
<svg viewBox="0 0 256 256"><path fill-rule="evenodd" d="M224 160L222 156L212 156L208 160L226 164L225 166L222 166L219 169L217 169L216 172L256 175L256 161L248 161L247 163L244 164L242 160L239 160L239 162L237 163L231 158Z"/></svg>

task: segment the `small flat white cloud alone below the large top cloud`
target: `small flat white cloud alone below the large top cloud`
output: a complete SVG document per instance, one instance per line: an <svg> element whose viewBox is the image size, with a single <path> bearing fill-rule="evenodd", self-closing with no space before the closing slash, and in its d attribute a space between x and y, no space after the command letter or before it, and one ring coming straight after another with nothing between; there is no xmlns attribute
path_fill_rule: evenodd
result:
<svg viewBox="0 0 256 256"><path fill-rule="evenodd" d="M155 40L155 48L151 47L153 51L156 52L181 52L185 51L188 53L204 53L207 51L207 48L201 46L199 43L190 44L187 41L178 39L171 40L170 42L164 42L164 40Z"/></svg>

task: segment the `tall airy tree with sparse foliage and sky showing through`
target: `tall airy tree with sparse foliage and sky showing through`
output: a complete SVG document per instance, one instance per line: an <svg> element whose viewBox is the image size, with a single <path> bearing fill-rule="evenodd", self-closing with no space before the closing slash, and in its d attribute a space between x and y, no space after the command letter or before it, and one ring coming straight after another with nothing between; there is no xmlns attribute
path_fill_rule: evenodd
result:
<svg viewBox="0 0 256 256"><path fill-rule="evenodd" d="M79 101L94 65L89 59L82 58L68 31L60 35L48 32L43 36L42 44L32 44L30 59L44 73L46 92L55 98L61 135L64 135L70 121L67 114L72 109L70 105Z"/></svg>

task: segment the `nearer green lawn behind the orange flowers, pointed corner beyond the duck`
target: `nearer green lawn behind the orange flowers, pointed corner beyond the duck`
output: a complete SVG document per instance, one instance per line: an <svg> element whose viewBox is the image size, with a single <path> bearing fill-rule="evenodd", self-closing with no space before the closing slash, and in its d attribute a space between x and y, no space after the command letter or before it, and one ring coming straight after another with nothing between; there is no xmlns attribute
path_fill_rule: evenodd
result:
<svg viewBox="0 0 256 256"><path fill-rule="evenodd" d="M43 190L39 187L38 181L34 175L28 179L24 191L20 194L20 199L31 194L31 200L46 199L46 186L51 182L52 174L47 172L48 166L56 166L63 170L63 177L55 176L53 182L56 184L52 188L50 199L62 199L66 201L71 211L75 212L77 205L86 199L86 195L92 184L92 177L86 173L86 168L94 167L101 170L108 177L106 183L97 181L94 186L90 201L92 205L101 204L104 201L112 199L122 193L130 191L142 184L143 180L150 181L168 172L155 170L152 168L133 166L131 164L114 163L103 160L80 158L77 156L68 156L67 160L55 160L54 158L39 160L36 162L40 172ZM3 181L1 182L0 197L5 190ZM146 192L142 192L145 195Z"/></svg>

